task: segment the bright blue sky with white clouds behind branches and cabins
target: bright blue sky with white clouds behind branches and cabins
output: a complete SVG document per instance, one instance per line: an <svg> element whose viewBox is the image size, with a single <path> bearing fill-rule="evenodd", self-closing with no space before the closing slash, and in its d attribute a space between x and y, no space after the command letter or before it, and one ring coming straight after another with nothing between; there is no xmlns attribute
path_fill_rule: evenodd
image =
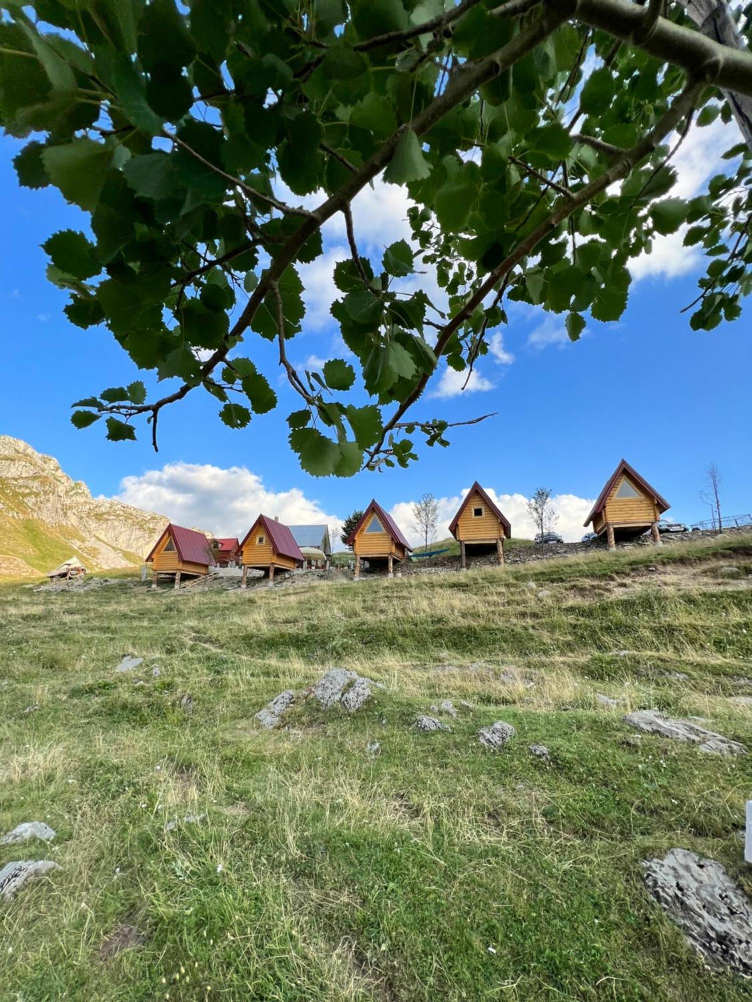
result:
<svg viewBox="0 0 752 1002"><path fill-rule="evenodd" d="M682 193L701 188L716 154L736 141L735 126L725 128L698 131L685 144ZM137 443L106 442L96 425L76 431L69 423L73 401L140 376L104 328L82 331L63 315L67 296L46 282L40 244L60 228L85 230L86 216L52 188L18 187L10 162L17 148L15 140L0 140L6 376L0 433L55 456L94 495L121 495L175 521L240 532L260 506L270 514L276 507L290 521L319 513L334 520L372 496L404 523L407 504L424 491L441 499L448 520L462 489L478 479L506 498L519 525L524 497L550 487L562 496L560 527L574 538L584 531L578 528L583 506L587 513L587 502L624 456L672 502L669 516L708 516L699 491L711 461L723 474L725 512L752 507L750 315L710 333L690 329L680 310L696 295L702 266L674 237L636 266L639 280L618 325L590 322L572 345L559 318L518 306L493 343L495 354L482 360L472 392L458 393L446 377L434 377L416 416L498 416L454 431L449 449L422 448L420 461L407 470L345 481L303 473L287 445L285 416L297 409L296 400L278 379L274 352L255 336L249 354L261 351L280 407L244 431L225 428L216 418L217 402L202 391L162 414L158 455L145 427ZM356 203L358 239L374 261L385 243L405 235L405 204L399 189L383 185ZM338 354L328 303L333 263L346 256L341 221L330 226L325 245L326 259L304 274L311 294L304 333L289 348L296 364ZM148 376L146 383L154 386ZM241 470L227 472L234 468Z"/></svg>

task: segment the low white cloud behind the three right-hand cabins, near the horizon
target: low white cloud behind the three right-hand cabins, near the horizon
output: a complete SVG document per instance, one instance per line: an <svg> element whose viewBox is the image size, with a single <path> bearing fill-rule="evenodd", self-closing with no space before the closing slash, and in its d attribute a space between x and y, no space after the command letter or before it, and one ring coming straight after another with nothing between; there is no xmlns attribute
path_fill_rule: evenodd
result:
<svg viewBox="0 0 752 1002"><path fill-rule="evenodd" d="M512 536L532 539L536 529L527 513L527 498L523 494L497 494L493 488L486 487L485 484L482 486L491 501L501 509L511 522ZM453 497L436 499L438 504L437 539L445 539L449 535L449 522L468 490L469 485ZM560 532L567 542L575 542L580 539L586 531L583 522L593 507L593 501L588 498L579 498L574 494L557 494L552 498L552 502L554 511L558 513L558 520L554 526L556 532ZM400 501L391 508L389 514L409 541L417 544L421 542L421 538L413 522L413 501Z"/></svg>

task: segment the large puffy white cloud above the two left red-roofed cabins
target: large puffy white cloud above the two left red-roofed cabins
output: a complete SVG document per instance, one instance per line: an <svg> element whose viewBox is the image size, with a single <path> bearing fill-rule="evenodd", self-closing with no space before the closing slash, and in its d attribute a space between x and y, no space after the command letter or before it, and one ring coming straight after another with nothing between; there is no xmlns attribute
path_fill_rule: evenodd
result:
<svg viewBox="0 0 752 1002"><path fill-rule="evenodd" d="M116 500L166 515L177 525L197 526L219 536L242 538L260 513L281 522L322 522L338 531L340 519L293 487L279 493L244 466L168 463L161 470L125 477ZM334 535L333 535L334 538Z"/></svg>

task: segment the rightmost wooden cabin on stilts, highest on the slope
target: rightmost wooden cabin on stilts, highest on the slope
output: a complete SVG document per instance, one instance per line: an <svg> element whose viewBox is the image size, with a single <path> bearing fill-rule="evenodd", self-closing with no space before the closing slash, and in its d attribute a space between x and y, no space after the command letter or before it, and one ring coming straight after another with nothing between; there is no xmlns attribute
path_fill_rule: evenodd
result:
<svg viewBox="0 0 752 1002"><path fill-rule="evenodd" d="M623 459L584 524L593 522L593 531L599 536L606 533L610 550L616 546L617 537L630 538L646 529L651 530L653 542L660 546L658 520L669 507L669 502Z"/></svg>

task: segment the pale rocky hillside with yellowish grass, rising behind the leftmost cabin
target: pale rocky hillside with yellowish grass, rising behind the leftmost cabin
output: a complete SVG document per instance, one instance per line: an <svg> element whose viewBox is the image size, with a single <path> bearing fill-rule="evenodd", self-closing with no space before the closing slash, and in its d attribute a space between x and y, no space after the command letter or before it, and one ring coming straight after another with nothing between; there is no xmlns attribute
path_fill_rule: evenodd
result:
<svg viewBox="0 0 752 1002"><path fill-rule="evenodd" d="M57 460L0 435L0 576L38 576L75 555L92 569L140 563L163 515L97 500Z"/></svg>

